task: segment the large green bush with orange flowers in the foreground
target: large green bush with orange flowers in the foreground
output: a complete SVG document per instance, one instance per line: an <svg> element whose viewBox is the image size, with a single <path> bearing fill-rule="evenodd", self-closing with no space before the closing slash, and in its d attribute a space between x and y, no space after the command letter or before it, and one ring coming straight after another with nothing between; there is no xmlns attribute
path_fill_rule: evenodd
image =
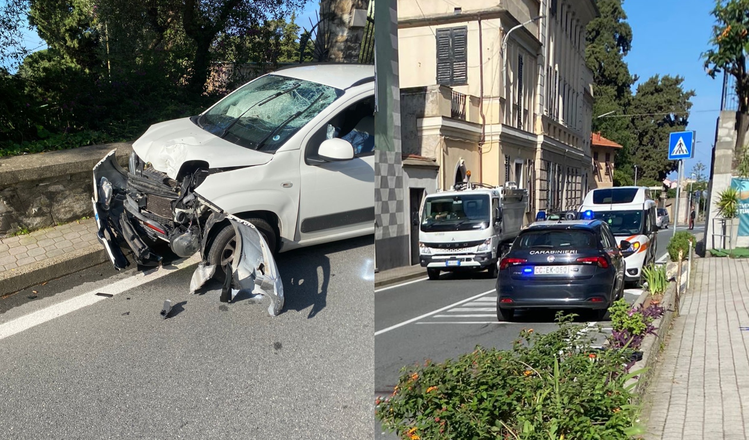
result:
<svg viewBox="0 0 749 440"><path fill-rule="evenodd" d="M628 352L594 350L580 329L524 330L509 350L404 369L375 414L412 440L630 439L641 429L625 382L640 372L625 374Z"/></svg>

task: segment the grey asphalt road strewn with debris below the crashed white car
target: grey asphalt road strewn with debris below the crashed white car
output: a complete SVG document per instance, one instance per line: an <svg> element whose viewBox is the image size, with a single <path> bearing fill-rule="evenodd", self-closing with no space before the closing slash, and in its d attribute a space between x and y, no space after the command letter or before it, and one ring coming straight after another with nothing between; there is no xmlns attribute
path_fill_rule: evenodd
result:
<svg viewBox="0 0 749 440"><path fill-rule="evenodd" d="M189 294L194 263L2 299L0 438L372 439L373 257L372 236L280 254L277 317Z"/></svg>

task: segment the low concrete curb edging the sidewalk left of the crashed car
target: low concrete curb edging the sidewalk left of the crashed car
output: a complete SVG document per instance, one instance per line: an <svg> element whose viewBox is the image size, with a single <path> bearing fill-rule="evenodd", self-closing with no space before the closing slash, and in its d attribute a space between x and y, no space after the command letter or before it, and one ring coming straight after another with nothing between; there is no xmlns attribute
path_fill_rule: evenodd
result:
<svg viewBox="0 0 749 440"><path fill-rule="evenodd" d="M0 297L109 261L100 244L0 273Z"/></svg>

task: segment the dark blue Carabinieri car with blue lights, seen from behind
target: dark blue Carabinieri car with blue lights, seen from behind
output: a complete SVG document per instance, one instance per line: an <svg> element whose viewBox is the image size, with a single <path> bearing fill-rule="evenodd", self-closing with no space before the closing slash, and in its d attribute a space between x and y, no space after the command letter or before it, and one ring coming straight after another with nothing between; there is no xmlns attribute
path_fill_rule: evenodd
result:
<svg viewBox="0 0 749 440"><path fill-rule="evenodd" d="M600 220L530 224L500 261L497 320L518 308L585 308L604 319L624 294L622 248L629 243L616 243Z"/></svg>

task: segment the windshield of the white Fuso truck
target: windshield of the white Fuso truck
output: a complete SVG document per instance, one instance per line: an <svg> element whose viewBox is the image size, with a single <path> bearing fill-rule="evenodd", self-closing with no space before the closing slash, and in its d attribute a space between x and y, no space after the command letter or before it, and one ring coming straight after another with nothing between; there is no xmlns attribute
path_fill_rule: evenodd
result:
<svg viewBox="0 0 749 440"><path fill-rule="evenodd" d="M488 195L450 195L427 198L421 230L473 230L489 226L491 202Z"/></svg>

